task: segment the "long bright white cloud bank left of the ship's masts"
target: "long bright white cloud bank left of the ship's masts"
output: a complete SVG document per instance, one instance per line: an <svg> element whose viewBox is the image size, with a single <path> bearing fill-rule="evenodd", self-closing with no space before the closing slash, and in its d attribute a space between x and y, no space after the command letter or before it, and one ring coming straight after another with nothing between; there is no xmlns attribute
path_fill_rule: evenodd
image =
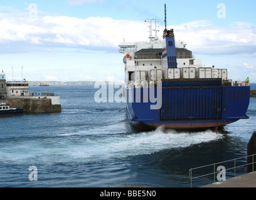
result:
<svg viewBox="0 0 256 200"><path fill-rule="evenodd" d="M41 47L61 44L73 47L112 48L117 47L122 41L124 29L127 41L147 37L147 31L142 31L142 22L114 20L110 17L79 19L66 16L45 16L29 19L29 17L8 16L1 17L0 26L3 27L0 29L0 44L26 42L27 44L42 44ZM142 32L144 34L141 34Z"/></svg>

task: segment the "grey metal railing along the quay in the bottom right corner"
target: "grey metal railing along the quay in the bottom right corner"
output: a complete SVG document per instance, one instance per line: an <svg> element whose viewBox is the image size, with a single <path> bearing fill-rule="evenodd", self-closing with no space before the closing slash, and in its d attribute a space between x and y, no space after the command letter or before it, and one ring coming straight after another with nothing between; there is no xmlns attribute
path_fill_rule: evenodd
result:
<svg viewBox="0 0 256 200"><path fill-rule="evenodd" d="M250 156L243 156L241 158L236 158L236 159L232 159L232 160L228 160L228 161L223 161L223 162L220 162L220 163L208 164L206 166L201 166L201 167L198 167L198 168L191 168L191 169L189 169L190 186L193 187L193 179L203 178L205 176L213 176L213 183L215 183L216 174L220 173L220 171L216 171L216 166L220 166L220 164L224 164L224 163L228 163L228 162L233 162L233 168L228 168L228 169L225 169L223 171L228 171L228 170L233 169L234 177L236 177L237 168L242 168L244 166L252 165L252 171L254 171L253 166L256 163L256 159L254 159L254 156L256 156L256 154L253 154L253 155L250 155ZM237 166L237 161L238 160L245 159L245 158L248 159L250 157L252 157L252 163L247 163L247 164L242 164L242 165ZM213 172L212 173L203 174L201 176L193 177L193 171L195 171L196 169L203 169L203 168L209 168L209 167L213 167Z"/></svg>

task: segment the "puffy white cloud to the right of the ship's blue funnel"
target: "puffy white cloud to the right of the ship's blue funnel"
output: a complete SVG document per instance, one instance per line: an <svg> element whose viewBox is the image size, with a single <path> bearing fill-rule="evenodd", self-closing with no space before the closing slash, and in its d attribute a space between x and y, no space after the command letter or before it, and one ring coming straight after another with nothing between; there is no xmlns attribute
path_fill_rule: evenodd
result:
<svg viewBox="0 0 256 200"><path fill-rule="evenodd" d="M208 21L196 21L181 24L175 34L196 54L253 54L256 49L254 29L253 26L213 26Z"/></svg>

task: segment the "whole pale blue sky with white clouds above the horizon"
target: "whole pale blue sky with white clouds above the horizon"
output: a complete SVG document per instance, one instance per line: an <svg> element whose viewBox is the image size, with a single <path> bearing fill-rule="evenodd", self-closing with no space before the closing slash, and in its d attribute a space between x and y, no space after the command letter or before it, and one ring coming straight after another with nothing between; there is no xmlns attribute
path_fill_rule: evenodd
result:
<svg viewBox="0 0 256 200"><path fill-rule="evenodd" d="M147 41L145 19L160 37L165 3L168 29L203 66L256 82L255 0L0 0L0 68L8 81L124 82L119 43Z"/></svg>

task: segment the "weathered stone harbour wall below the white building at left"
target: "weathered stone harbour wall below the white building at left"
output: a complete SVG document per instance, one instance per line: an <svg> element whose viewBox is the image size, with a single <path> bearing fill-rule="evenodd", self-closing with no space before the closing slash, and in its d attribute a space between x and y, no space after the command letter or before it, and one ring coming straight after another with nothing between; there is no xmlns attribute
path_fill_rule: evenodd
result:
<svg viewBox="0 0 256 200"><path fill-rule="evenodd" d="M24 113L60 113L61 104L58 103L58 98L14 98L1 100L1 103L10 105L10 108L23 108Z"/></svg>

